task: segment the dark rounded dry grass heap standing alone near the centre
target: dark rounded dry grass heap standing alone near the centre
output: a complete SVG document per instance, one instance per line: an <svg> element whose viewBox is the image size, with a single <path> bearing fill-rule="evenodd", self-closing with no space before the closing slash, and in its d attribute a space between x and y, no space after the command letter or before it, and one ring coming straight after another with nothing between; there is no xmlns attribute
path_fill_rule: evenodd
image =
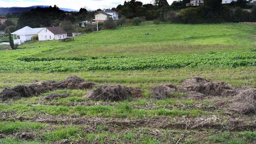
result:
<svg viewBox="0 0 256 144"><path fill-rule="evenodd" d="M86 94L84 97L92 100L111 100L111 101L121 101L127 99L131 96L132 92L128 88L116 85L103 85L95 90L92 90L90 93Z"/></svg>

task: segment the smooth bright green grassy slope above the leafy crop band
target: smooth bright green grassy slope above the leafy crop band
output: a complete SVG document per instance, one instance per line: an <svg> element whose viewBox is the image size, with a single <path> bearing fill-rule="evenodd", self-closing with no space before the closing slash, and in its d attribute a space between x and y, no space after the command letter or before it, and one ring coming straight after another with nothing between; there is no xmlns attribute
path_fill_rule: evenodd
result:
<svg viewBox="0 0 256 144"><path fill-rule="evenodd" d="M145 35L149 33L149 35ZM75 37L72 42L37 42L20 48L54 46L57 49L35 54L38 57L128 55L162 56L209 51L250 51L255 27L242 24L141 24L118 26Z"/></svg>

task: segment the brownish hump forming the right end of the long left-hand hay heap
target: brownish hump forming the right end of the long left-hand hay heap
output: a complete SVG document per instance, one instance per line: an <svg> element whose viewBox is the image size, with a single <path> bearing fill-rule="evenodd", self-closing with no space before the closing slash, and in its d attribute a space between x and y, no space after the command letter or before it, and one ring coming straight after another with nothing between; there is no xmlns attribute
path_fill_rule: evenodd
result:
<svg viewBox="0 0 256 144"><path fill-rule="evenodd" d="M88 89L95 85L93 82L87 82L81 77L70 76L67 79L53 83L56 89Z"/></svg>

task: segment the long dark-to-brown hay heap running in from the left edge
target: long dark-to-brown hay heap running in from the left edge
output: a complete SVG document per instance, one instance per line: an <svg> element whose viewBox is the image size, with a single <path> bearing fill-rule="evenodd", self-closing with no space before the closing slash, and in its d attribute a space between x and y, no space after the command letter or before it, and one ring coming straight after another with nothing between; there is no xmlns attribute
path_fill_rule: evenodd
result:
<svg viewBox="0 0 256 144"><path fill-rule="evenodd" d="M20 99L21 97L33 97L57 89L88 89L95 85L80 77L71 76L61 81L35 81L30 85L18 85L13 88L4 88L0 93L0 99Z"/></svg>

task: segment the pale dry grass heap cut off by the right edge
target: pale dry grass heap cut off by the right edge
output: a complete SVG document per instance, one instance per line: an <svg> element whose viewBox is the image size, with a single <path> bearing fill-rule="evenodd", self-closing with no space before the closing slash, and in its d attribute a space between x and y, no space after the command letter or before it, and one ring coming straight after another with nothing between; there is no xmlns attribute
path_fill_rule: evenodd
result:
<svg viewBox="0 0 256 144"><path fill-rule="evenodd" d="M256 88L241 91L231 101L230 110L242 114L256 113Z"/></svg>

